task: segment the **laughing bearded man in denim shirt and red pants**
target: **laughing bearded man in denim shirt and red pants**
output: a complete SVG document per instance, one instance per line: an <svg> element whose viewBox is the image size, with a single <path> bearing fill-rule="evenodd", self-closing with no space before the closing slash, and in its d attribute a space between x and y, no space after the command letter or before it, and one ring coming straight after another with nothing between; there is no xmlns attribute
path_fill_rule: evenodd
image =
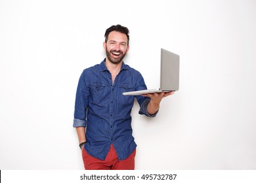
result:
<svg viewBox="0 0 256 183"><path fill-rule="evenodd" d="M123 63L129 51L129 29L121 25L106 29L103 47L106 58L85 69L77 86L74 127L83 163L85 169L135 169L137 144L131 128L134 97L140 105L139 114L154 117L161 99L173 92L122 95L146 90L142 75Z"/></svg>

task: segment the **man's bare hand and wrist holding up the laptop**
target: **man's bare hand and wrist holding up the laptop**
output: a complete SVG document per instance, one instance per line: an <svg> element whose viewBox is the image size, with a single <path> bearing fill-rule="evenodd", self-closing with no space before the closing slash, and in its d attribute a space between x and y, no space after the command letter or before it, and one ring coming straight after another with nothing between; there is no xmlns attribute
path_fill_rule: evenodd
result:
<svg viewBox="0 0 256 183"><path fill-rule="evenodd" d="M167 97L169 95L173 95L173 94L174 94L174 92L142 94L142 96L144 96L144 97L150 97L150 103L148 103L148 107L147 107L148 113L151 115L156 114L156 112L160 108L161 99L163 99L164 97Z"/></svg>

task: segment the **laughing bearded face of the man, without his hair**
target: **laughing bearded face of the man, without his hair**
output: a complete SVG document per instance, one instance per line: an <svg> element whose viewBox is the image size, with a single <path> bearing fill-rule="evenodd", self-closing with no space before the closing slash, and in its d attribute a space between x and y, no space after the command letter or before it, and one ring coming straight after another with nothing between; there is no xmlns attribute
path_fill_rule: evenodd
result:
<svg viewBox="0 0 256 183"><path fill-rule="evenodd" d="M104 42L107 59L112 63L120 63L129 50L127 36L124 33L112 31L108 35L108 41Z"/></svg>

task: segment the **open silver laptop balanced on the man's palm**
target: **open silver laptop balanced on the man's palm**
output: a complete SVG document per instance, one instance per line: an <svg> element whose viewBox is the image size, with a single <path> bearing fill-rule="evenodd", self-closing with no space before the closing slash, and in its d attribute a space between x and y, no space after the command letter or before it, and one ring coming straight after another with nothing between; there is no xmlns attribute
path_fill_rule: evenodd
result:
<svg viewBox="0 0 256 183"><path fill-rule="evenodd" d="M160 87L150 90L123 92L123 95L142 95L146 93L175 92L179 90L180 57L161 48Z"/></svg>

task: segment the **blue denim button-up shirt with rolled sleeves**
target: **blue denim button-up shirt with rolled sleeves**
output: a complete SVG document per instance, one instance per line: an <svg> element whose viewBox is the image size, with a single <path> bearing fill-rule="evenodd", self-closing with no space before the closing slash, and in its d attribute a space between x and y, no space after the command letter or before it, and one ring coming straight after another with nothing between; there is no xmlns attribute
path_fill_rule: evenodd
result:
<svg viewBox="0 0 256 183"><path fill-rule="evenodd" d="M139 114L148 114L150 101L141 95L125 96L123 92L146 90L142 75L123 63L114 84L105 59L85 69L79 78L75 98L74 127L86 127L85 150L91 156L104 160L113 144L119 161L128 158L137 144L132 135L131 109L136 97Z"/></svg>

